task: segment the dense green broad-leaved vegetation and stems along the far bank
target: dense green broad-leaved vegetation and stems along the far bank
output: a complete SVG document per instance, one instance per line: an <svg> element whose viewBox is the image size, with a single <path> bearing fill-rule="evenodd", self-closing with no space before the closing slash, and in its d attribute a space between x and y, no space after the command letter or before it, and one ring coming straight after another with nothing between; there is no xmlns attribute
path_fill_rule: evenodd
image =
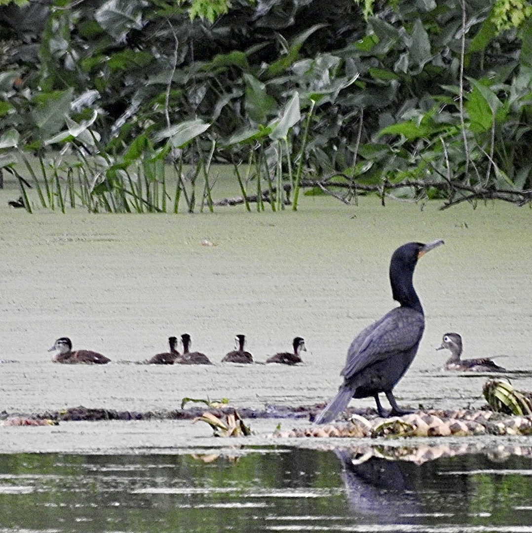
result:
<svg viewBox="0 0 532 533"><path fill-rule="evenodd" d="M530 205L531 11L525 0L11 4L0 169L28 209L28 185L62 210L212 209L213 163L240 185L225 203L248 209L295 209L300 187L346 202L375 191Z"/></svg>

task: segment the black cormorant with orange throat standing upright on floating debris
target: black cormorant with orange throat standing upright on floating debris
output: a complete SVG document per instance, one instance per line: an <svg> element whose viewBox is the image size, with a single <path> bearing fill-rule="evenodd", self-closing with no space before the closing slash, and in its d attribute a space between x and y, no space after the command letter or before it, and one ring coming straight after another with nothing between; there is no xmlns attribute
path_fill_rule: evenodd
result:
<svg viewBox="0 0 532 533"><path fill-rule="evenodd" d="M384 392L390 402L391 415L405 414L406 411L397 406L392 389L412 363L425 328L423 308L412 277L417 260L440 244L444 244L441 239L429 244L407 243L393 252L390 284L393 299L400 306L354 338L340 373L344 382L333 400L316 418L317 424L331 422L349 405L351 398L368 396L375 398L378 414L386 416L378 399L380 392Z"/></svg>

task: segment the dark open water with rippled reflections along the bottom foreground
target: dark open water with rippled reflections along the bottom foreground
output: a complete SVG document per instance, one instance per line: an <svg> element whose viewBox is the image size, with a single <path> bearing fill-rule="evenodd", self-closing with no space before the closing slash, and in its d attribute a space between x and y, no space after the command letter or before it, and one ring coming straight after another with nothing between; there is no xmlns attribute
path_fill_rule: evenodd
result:
<svg viewBox="0 0 532 533"><path fill-rule="evenodd" d="M530 458L376 450L2 455L0 531L532 532Z"/></svg>

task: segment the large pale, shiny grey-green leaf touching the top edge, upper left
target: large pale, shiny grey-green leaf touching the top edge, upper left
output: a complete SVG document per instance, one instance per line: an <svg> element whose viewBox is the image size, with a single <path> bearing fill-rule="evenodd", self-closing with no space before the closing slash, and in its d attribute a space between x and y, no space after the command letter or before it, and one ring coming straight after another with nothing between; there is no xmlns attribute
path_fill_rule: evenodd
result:
<svg viewBox="0 0 532 533"><path fill-rule="evenodd" d="M124 41L127 32L142 29L142 2L138 0L109 0L94 14L100 26L116 41Z"/></svg>

